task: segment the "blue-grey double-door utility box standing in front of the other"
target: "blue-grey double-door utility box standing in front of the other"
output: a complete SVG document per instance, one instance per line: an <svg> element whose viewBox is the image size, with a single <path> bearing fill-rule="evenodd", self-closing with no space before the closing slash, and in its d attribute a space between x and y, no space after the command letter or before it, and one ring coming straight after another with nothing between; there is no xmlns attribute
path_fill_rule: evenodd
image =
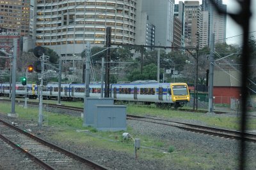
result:
<svg viewBox="0 0 256 170"><path fill-rule="evenodd" d="M126 106L96 105L94 127L98 131L126 131Z"/></svg>

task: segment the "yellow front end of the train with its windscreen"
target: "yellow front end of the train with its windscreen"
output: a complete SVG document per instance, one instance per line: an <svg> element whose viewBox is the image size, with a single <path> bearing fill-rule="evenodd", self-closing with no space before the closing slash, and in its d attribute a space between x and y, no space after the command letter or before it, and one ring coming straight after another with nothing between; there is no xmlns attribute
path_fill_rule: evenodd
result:
<svg viewBox="0 0 256 170"><path fill-rule="evenodd" d="M172 101L175 108L184 106L190 100L189 89L187 83L170 83Z"/></svg>

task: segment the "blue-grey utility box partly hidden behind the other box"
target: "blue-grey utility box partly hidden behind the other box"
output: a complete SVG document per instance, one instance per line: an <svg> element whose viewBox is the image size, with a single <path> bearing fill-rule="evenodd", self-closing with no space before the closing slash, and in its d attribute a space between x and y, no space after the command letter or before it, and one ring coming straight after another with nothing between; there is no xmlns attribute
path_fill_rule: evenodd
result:
<svg viewBox="0 0 256 170"><path fill-rule="evenodd" d="M84 101L84 122L83 126L94 125L94 113L97 110L96 104L114 104L114 99L110 98L91 98L88 97Z"/></svg>

